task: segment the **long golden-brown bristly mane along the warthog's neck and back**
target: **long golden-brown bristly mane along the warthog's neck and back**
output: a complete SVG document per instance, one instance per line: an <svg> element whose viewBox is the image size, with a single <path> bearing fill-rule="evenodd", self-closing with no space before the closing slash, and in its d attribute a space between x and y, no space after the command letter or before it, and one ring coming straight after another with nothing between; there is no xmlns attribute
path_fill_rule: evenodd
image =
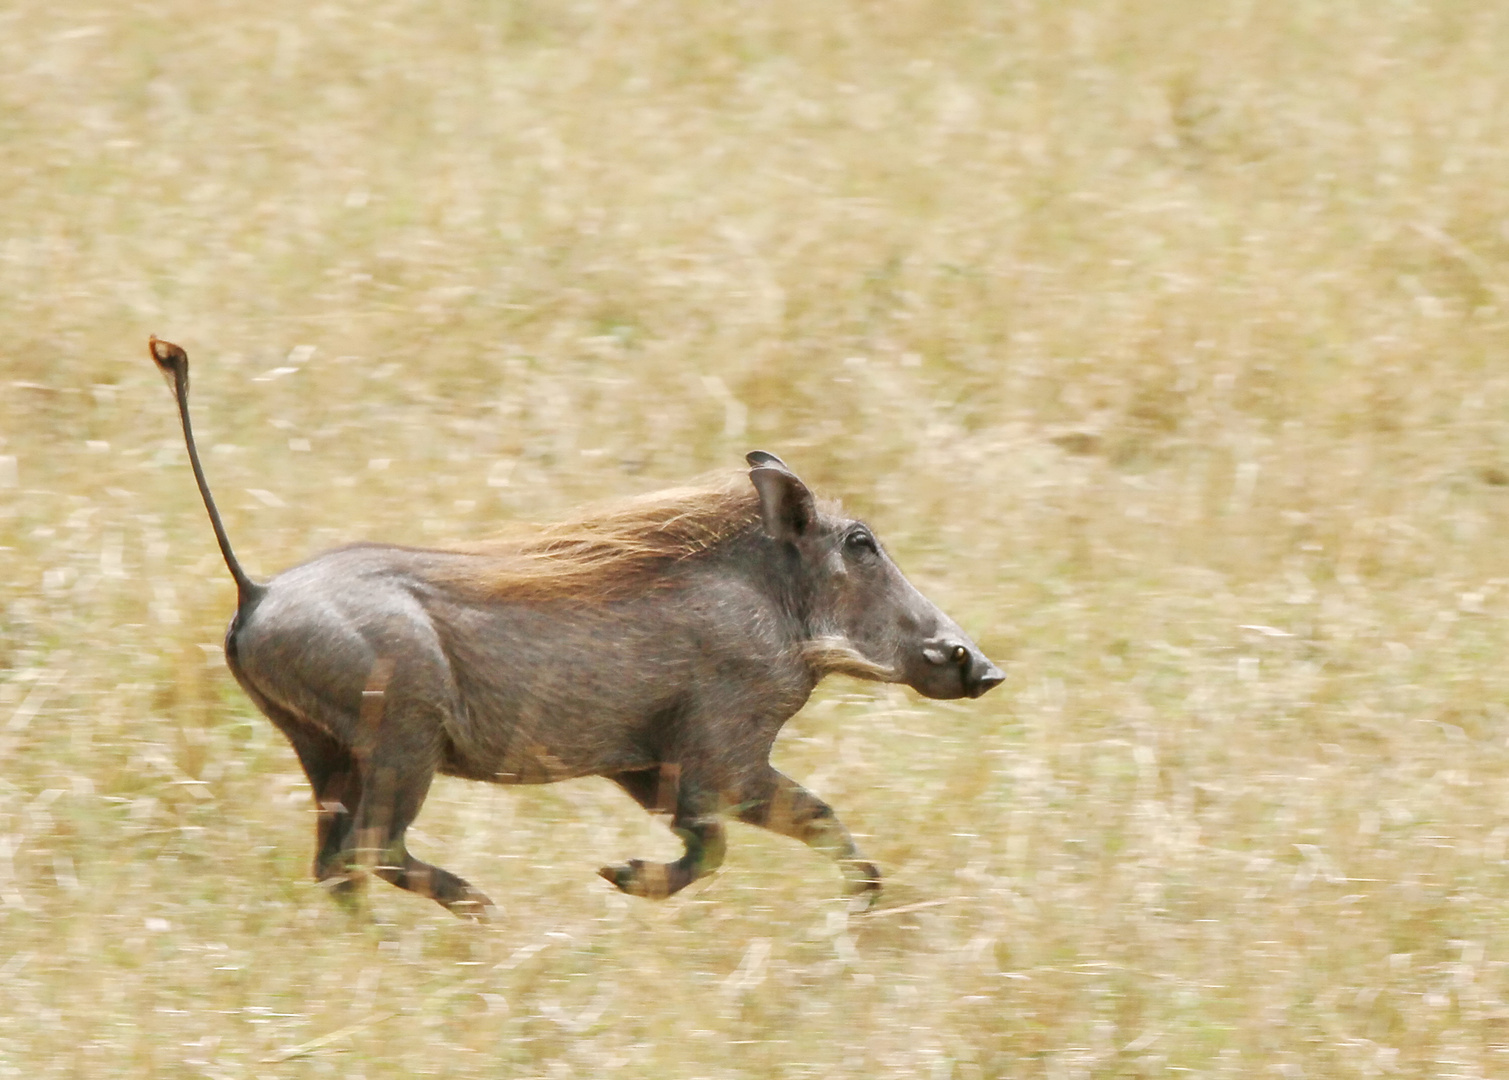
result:
<svg viewBox="0 0 1509 1080"><path fill-rule="evenodd" d="M512 528L445 551L438 576L509 600L611 600L653 590L670 564L759 526L747 474L718 475L599 507L554 525Z"/></svg>

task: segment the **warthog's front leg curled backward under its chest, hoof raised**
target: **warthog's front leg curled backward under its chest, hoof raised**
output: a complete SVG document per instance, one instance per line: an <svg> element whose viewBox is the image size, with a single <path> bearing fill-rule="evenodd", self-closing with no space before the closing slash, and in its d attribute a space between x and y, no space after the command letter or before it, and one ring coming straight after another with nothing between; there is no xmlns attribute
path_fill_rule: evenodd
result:
<svg viewBox="0 0 1509 1080"><path fill-rule="evenodd" d="M687 854L675 863L634 858L622 866L605 866L598 873L629 896L658 901L679 893L723 864L726 842L717 798L696 784L682 783L678 766L620 772L613 781L650 813L670 813L670 830L687 845Z"/></svg>

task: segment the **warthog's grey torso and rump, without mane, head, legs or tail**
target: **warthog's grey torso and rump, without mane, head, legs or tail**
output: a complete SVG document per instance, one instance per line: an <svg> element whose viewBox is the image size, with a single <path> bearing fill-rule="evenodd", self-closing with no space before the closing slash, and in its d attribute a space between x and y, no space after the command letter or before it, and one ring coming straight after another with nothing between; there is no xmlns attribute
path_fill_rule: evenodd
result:
<svg viewBox="0 0 1509 1080"><path fill-rule="evenodd" d="M424 716L432 766L501 783L688 756L711 765L729 727L773 739L816 682L782 612L724 560L670 567L676 584L589 605L436 582L474 558L364 545L273 578L228 637L237 677L356 745L352 703L391 658L385 712ZM400 695L413 700L400 706Z"/></svg>

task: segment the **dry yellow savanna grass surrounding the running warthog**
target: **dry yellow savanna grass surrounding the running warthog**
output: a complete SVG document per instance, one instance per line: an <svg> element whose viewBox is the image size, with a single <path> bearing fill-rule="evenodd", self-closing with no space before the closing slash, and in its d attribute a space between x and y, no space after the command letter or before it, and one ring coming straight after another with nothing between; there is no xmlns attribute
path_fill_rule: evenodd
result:
<svg viewBox="0 0 1509 1080"><path fill-rule="evenodd" d="M0 1075L1509 1074L1509 9L0 12ZM439 781L308 881L148 333L267 575L738 466L1008 683L825 685L889 876ZM899 910L898 910L899 908ZM297 1051L297 1053L294 1053Z"/></svg>

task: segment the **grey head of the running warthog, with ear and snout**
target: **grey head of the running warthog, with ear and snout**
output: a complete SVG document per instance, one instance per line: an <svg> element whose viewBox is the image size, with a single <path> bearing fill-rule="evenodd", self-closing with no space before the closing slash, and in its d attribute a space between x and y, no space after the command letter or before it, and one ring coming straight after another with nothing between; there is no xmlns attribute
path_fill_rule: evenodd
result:
<svg viewBox="0 0 1509 1080"><path fill-rule="evenodd" d="M822 670L902 682L927 697L979 697L1000 668L901 573L863 523L818 508L774 454L747 456L765 534L795 555L792 594Z"/></svg>

